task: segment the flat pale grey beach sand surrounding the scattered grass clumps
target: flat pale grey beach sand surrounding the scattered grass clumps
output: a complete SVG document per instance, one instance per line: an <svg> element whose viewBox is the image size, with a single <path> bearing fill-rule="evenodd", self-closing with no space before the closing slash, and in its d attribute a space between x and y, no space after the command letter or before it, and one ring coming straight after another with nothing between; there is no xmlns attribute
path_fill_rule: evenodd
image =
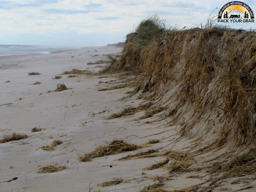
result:
<svg viewBox="0 0 256 192"><path fill-rule="evenodd" d="M98 52L94 52L97 49ZM87 52L91 50L92 52ZM123 88L111 91L98 91L98 87L109 84L98 84L99 80L116 79L116 75L99 79L99 75L89 75L61 79L52 79L65 70L72 68L97 71L97 65L86 65L88 62L106 60L102 54L120 52L121 48L113 46L68 50L44 55L8 56L0 57L0 137L6 134L26 133L27 139L0 144L0 192L9 191L139 191L143 187L153 184L150 178L168 175L166 169L155 169L142 174L144 167L153 165L162 158L146 158L131 161L116 161L127 154L122 153L108 157L93 159L91 162L79 162L78 153L89 153L93 148L104 141L114 138L144 144L149 139L162 139L161 143L148 145L141 151L150 148L166 146L178 136L173 136L178 127L165 126L165 120L145 124L146 121L157 119L158 116L145 120L135 120L144 112L134 116L106 120L114 112L124 106L137 106L143 100L118 101L127 91L133 88ZM94 56L98 54L99 56ZM74 57L73 57L74 56ZM41 75L28 76L28 72L39 72ZM10 83L4 83L10 80ZM41 84L33 85L39 81ZM56 89L57 83L65 83L72 89L46 93ZM19 98L22 98L19 100ZM102 110L104 113L92 115ZM41 132L31 132L32 127L44 129ZM161 126L159 126L161 125ZM165 132L166 131L166 132ZM158 135L159 132L163 132ZM131 136L133 135L133 136ZM153 135L153 136L152 136ZM41 146L51 143L54 139L63 141L52 152L43 151ZM27 144L22 144L26 141ZM187 146L186 140L178 140L169 148L178 149ZM202 159L207 155L202 155ZM67 169L56 172L38 174L38 165L59 163L67 165ZM110 167L112 165L112 167ZM165 182L168 189L189 187L203 182L200 178L187 178L193 172L174 176ZM206 173L202 172L202 175ZM3 182L18 177L11 182ZM97 187L105 181L121 177L125 182L112 187ZM207 179L207 177L205 178ZM222 191L234 191L245 188L246 184L231 185L231 180L221 187ZM250 184L251 185L251 184ZM248 191L254 191L250 188ZM220 189L216 189L219 191Z"/></svg>

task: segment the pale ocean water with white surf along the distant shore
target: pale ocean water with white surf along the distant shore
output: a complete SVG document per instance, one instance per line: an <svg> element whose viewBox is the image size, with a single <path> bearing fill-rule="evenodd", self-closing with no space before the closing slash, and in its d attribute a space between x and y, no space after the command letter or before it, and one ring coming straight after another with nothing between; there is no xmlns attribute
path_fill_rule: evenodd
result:
<svg viewBox="0 0 256 192"><path fill-rule="evenodd" d="M48 54L67 49L79 49L78 47L45 46L45 45L0 45L0 56L21 54Z"/></svg>

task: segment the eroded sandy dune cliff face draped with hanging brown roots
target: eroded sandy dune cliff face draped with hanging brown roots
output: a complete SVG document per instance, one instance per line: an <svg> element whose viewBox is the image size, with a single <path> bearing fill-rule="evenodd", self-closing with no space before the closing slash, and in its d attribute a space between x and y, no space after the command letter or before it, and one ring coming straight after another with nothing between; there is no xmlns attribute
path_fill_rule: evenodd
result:
<svg viewBox="0 0 256 192"><path fill-rule="evenodd" d="M207 150L255 146L256 33L223 28L166 31L147 46L127 35L116 69L142 75L140 91L169 109L180 136Z"/></svg>

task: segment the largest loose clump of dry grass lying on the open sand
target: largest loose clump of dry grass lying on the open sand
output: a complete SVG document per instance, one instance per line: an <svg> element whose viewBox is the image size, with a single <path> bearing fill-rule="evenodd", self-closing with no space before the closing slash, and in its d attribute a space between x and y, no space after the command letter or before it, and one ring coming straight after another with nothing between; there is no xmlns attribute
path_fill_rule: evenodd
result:
<svg viewBox="0 0 256 192"><path fill-rule="evenodd" d="M142 146L125 143L123 140L113 140L111 143L107 143L95 148L91 153L78 155L78 159L79 161L87 162L91 161L93 158L124 153L127 151L137 150L139 148L142 148Z"/></svg>

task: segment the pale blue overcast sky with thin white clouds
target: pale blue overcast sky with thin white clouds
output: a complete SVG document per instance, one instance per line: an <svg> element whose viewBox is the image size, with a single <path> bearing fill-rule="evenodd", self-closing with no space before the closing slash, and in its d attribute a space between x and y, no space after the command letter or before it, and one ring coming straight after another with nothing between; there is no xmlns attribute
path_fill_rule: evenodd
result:
<svg viewBox="0 0 256 192"><path fill-rule="evenodd" d="M229 1L0 0L0 44L112 44L125 41L125 36L148 15L158 14L168 26L180 29L200 26L212 10ZM256 13L256 0L243 2ZM250 25L253 29L255 26L256 22Z"/></svg>

